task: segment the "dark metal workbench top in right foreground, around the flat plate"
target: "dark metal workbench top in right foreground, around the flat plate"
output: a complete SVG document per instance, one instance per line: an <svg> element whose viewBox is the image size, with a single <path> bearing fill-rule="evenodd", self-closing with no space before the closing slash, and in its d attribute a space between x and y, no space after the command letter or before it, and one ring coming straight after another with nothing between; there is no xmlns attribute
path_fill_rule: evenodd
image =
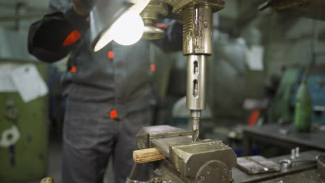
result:
<svg viewBox="0 0 325 183"><path fill-rule="evenodd" d="M324 154L317 150L310 150L300 154L299 159L315 159L317 155ZM281 159L290 159L290 155L283 155L280 157L272 157L269 160L278 163ZM325 182L317 169L315 162L299 162L294 164L291 168L281 170L276 173L261 173L257 175L248 175L239 168L233 168L232 176L234 183L253 183L253 182L264 182L264 183L322 183Z"/></svg>

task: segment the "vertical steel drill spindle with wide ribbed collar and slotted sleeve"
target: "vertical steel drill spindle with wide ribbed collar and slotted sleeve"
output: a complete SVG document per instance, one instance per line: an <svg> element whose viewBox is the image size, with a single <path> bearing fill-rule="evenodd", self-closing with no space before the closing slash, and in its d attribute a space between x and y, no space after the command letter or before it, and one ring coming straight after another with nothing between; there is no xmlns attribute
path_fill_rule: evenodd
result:
<svg viewBox="0 0 325 183"><path fill-rule="evenodd" d="M188 56L186 105L192 130L199 133L201 110L206 109L206 59L211 55L213 8L192 5L183 12L183 55Z"/></svg>

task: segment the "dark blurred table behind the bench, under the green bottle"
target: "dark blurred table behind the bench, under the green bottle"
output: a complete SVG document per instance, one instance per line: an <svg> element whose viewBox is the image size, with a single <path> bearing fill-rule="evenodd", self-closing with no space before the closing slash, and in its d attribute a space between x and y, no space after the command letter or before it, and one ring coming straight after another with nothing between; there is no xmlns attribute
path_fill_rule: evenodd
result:
<svg viewBox="0 0 325 183"><path fill-rule="evenodd" d="M252 155L253 143L262 142L273 146L283 148L299 147L303 150L321 150L325 151L325 132L312 131L310 133L301 133L294 130L290 125L263 125L243 126L244 133L244 155Z"/></svg>

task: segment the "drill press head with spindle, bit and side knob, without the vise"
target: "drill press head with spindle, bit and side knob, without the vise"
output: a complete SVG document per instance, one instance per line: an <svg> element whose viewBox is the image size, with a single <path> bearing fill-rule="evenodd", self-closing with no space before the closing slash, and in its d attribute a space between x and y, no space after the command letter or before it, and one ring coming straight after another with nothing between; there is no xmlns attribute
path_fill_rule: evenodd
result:
<svg viewBox="0 0 325 183"><path fill-rule="evenodd" d="M213 12L224 8L224 4L224 0L151 0L141 13L150 28L160 17L176 17L184 22L183 55L188 58L186 102L194 132L193 141L197 141L199 136L201 111L206 109L206 60L211 55ZM167 15L168 7L172 8L170 15ZM151 40L161 35L160 32L145 31L142 38Z"/></svg>

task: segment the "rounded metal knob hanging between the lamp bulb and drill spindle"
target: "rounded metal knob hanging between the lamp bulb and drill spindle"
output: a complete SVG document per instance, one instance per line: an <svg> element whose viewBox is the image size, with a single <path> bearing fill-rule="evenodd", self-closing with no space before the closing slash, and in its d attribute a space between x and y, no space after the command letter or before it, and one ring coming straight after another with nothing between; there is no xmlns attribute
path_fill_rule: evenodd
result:
<svg viewBox="0 0 325 183"><path fill-rule="evenodd" d="M142 39L144 40L158 40L165 37L165 30L158 28L155 24L161 17L168 15L167 4L163 1L151 0L150 3L141 12L140 16L144 21L144 33Z"/></svg>

